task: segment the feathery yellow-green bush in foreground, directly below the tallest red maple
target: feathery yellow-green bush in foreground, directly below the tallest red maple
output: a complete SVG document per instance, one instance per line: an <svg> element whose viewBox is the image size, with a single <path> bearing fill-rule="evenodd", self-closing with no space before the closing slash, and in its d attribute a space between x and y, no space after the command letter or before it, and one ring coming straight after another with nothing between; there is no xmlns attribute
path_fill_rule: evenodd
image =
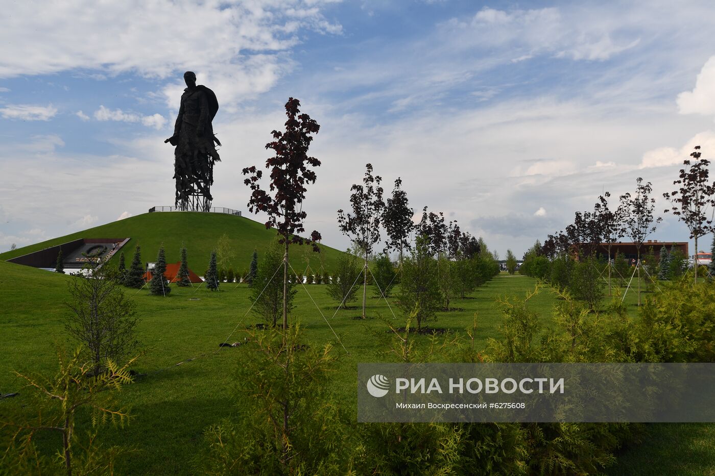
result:
<svg viewBox="0 0 715 476"><path fill-rule="evenodd" d="M195 462L209 474L333 475L350 472L347 417L330 395L330 344L305 347L299 323L247 331L238 354L235 418L204 432Z"/></svg>

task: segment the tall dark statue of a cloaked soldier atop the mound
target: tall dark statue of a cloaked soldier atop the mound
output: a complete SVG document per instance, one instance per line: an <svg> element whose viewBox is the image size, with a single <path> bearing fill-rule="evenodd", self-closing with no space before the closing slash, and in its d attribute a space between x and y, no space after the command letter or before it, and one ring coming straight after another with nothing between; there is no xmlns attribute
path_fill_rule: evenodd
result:
<svg viewBox="0 0 715 476"><path fill-rule="evenodd" d="M174 206L180 210L208 212L211 207L211 185L214 183L214 162L219 162L215 145L221 145L214 135L212 121L219 109L214 91L196 84L193 71L184 73L187 88L181 96L174 135L164 141L174 149Z"/></svg>

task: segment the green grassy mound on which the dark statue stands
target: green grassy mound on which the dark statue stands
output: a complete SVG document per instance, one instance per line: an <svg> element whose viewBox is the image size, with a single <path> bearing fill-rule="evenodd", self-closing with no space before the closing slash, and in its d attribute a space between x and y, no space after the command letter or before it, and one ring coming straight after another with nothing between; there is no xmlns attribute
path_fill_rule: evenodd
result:
<svg viewBox="0 0 715 476"><path fill-rule="evenodd" d="M159 246L163 242L167 262L173 263L179 261L179 249L184 243L187 248L189 268L197 274L203 275L204 270L208 267L211 251L224 233L228 234L232 241L236 254L232 259L232 267L236 272L249 269L254 249L259 252L260 261L260 253L276 236L275 229L266 229L264 224L246 217L220 213L157 212L129 217L82 232L14 249L0 254L0 259L18 257L79 238L131 237L132 239L123 248L127 267L132 261L134 247L137 244L142 249L142 260L153 262L156 260ZM321 245L320 248L325 268L333 269L340 252L325 245ZM321 257L310 252L309 247L300 246L292 246L290 251L291 262L295 270L297 272L305 270L306 255L310 257L311 268L319 271ZM113 260L116 260L117 256L115 255Z"/></svg>

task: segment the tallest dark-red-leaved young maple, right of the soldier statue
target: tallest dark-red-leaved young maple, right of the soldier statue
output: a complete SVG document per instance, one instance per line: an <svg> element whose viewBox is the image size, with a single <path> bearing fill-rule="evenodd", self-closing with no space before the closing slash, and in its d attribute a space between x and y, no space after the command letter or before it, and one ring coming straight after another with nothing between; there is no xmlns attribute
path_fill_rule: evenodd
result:
<svg viewBox="0 0 715 476"><path fill-rule="evenodd" d="M303 210L306 184L315 184L317 176L309 167L320 167L320 161L309 157L307 152L312 142L312 134L320 131L320 125L310 116L300 112L300 101L289 98L285 103L285 132L273 131L273 141L266 144L275 155L266 160L265 168L270 169L270 192L268 194L258 183L263 175L257 167L246 167L242 173L250 177L244 183L252 190L248 202L250 212L265 212L268 215L266 228L275 227L280 243L285 247L283 254L283 329L288 327L288 249L291 243L312 244L315 252L320 250L317 242L320 233L313 230L310 239L300 237L305 232L303 220L307 213ZM285 335L285 333L284 333ZM287 425L285 416L284 426Z"/></svg>

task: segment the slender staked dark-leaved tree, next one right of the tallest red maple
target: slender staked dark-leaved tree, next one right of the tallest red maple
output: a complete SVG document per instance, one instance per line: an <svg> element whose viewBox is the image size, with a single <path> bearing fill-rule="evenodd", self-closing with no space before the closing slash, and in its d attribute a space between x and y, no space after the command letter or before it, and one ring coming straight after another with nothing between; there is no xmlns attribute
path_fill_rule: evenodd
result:
<svg viewBox="0 0 715 476"><path fill-rule="evenodd" d="M352 213L337 211L337 224L340 231L350 237L353 243L363 252L363 319L365 319L365 302L368 290L368 256L373 251L373 245L380 241L380 220L383 219L383 187L380 187L382 177L373 177L373 165L365 164L363 184L353 184L350 187L350 206Z"/></svg>

